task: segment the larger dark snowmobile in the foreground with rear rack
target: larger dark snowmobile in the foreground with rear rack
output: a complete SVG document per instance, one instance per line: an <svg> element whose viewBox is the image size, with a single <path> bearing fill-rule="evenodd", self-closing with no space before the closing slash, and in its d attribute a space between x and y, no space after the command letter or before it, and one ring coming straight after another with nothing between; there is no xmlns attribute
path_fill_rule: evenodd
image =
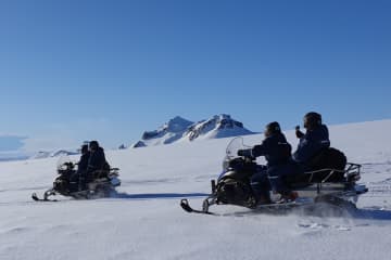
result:
<svg viewBox="0 0 391 260"><path fill-rule="evenodd" d="M291 209L302 205L326 203L328 205L355 208L361 194L368 190L356 182L361 179L361 165L346 162L344 155L328 148L317 156L314 161L317 167L312 171L294 176L287 176L283 181L298 195L294 200L258 204L251 185L251 177L257 171L265 171L266 166L257 165L255 158L240 157L238 151L251 148L244 145L241 136L235 138L228 144L223 162L223 173L212 180L212 193L202 203L202 209L193 209L187 198L181 199L180 206L187 212L213 214L209 209L213 205L237 205L250 209ZM336 160L332 156L341 158ZM321 161L319 161L321 160ZM337 162L336 162L337 161ZM276 196L277 194L272 196Z"/></svg>

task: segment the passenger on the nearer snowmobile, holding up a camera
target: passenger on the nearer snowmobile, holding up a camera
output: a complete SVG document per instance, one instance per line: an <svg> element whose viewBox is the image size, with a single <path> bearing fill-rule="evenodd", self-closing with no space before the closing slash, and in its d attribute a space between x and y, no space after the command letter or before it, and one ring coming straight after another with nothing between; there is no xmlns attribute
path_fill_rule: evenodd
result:
<svg viewBox="0 0 391 260"><path fill-rule="evenodd" d="M295 127L295 135L300 141L292 158L302 165L304 170L311 170L311 159L330 147L329 132L326 125L321 123L321 115L316 112L305 114L303 125L305 133L300 131L299 126Z"/></svg>

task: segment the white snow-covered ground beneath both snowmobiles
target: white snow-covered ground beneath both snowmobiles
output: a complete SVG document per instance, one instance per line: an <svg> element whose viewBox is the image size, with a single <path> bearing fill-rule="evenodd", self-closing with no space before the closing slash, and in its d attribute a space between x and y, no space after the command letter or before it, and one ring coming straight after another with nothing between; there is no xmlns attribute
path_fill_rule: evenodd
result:
<svg viewBox="0 0 391 260"><path fill-rule="evenodd" d="M185 212L180 198L201 206L231 139L106 151L123 184L118 197L96 200L30 199L51 186L58 158L0 162L0 259L389 259L391 120L329 130L332 146L363 164L369 192L356 213ZM295 146L293 131L286 134ZM244 136L247 144L262 139Z"/></svg>

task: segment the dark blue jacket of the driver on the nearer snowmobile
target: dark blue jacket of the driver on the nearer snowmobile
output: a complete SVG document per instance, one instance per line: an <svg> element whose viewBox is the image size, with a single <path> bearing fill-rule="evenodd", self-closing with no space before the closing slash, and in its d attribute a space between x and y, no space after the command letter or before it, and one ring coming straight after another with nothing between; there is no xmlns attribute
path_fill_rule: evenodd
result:
<svg viewBox="0 0 391 260"><path fill-rule="evenodd" d="M275 133L266 138L262 144L255 145L251 153L254 157L265 156L268 166L276 166L289 161L291 150L286 136L282 133Z"/></svg>

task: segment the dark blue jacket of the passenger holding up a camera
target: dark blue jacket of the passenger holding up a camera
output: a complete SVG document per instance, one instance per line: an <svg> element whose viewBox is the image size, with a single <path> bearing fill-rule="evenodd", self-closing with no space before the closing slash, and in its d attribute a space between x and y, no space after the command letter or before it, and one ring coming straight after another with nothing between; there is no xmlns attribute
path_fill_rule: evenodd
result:
<svg viewBox="0 0 391 260"><path fill-rule="evenodd" d="M319 126L300 139L298 150L293 154L293 159L301 164L306 164L320 150L330 147L328 129L325 125Z"/></svg>

